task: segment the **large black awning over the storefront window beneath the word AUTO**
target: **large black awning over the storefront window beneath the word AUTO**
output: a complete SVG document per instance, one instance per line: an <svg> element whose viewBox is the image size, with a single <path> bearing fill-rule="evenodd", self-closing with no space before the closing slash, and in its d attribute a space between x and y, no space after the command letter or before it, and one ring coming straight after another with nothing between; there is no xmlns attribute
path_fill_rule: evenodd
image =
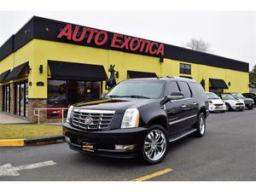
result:
<svg viewBox="0 0 256 192"><path fill-rule="evenodd" d="M52 79L102 81L108 79L103 66L84 63L48 61Z"/></svg>

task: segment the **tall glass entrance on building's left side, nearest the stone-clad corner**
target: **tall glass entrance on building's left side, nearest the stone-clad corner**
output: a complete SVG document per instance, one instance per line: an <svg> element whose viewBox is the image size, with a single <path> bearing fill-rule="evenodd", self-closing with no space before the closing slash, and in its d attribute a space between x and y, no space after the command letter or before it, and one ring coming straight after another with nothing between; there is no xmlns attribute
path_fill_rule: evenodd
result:
<svg viewBox="0 0 256 192"><path fill-rule="evenodd" d="M15 113L17 115L27 117L28 113L28 84L27 82L18 82L15 84L16 89L16 102L15 102Z"/></svg>

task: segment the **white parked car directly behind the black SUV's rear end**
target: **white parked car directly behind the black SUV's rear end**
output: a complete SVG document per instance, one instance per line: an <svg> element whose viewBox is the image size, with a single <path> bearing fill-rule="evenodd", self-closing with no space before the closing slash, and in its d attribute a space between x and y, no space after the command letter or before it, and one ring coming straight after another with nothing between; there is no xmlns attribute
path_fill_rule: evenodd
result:
<svg viewBox="0 0 256 192"><path fill-rule="evenodd" d="M215 93L207 92L208 103L209 103L209 111L219 111L225 112L227 110L225 103L223 100L217 96Z"/></svg>

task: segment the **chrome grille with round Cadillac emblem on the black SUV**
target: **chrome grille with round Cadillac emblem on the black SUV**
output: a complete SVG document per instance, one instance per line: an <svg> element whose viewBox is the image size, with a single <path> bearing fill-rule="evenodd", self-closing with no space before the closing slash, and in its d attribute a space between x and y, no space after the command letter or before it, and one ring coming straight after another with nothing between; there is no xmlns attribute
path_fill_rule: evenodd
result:
<svg viewBox="0 0 256 192"><path fill-rule="evenodd" d="M107 129L114 113L107 110L74 109L73 125L80 130Z"/></svg>

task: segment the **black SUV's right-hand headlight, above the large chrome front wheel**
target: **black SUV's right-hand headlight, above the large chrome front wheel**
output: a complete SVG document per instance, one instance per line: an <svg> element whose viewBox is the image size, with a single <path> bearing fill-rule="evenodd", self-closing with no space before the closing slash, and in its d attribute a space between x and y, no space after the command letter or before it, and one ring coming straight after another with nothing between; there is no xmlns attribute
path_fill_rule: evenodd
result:
<svg viewBox="0 0 256 192"><path fill-rule="evenodd" d="M128 108L125 111L121 128L138 127L139 111L137 108Z"/></svg>

